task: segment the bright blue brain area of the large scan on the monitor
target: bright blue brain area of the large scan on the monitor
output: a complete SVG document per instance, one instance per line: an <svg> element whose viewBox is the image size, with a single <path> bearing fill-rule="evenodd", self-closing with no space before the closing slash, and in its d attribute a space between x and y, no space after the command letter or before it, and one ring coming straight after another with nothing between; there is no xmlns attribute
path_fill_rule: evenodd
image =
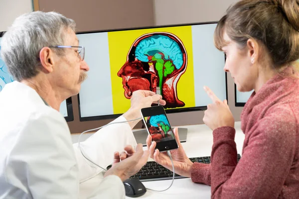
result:
<svg viewBox="0 0 299 199"><path fill-rule="evenodd" d="M176 69L183 65L183 53L179 45L171 38L164 35L153 35L143 39L136 47L136 58L142 62L149 62L153 56L165 61L171 60Z"/></svg>

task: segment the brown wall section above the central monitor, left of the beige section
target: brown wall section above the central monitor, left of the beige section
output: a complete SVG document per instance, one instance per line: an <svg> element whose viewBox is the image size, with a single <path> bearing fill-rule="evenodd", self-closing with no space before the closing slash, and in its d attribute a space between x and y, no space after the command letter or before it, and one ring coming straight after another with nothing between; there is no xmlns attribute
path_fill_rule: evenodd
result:
<svg viewBox="0 0 299 199"><path fill-rule="evenodd" d="M39 10L57 11L77 23L77 31L153 25L152 0L39 0Z"/></svg>

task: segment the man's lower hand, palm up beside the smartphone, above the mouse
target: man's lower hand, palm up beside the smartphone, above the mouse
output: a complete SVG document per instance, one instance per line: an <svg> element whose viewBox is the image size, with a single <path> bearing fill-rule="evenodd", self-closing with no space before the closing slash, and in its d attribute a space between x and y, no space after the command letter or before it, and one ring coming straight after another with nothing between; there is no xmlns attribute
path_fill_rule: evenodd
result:
<svg viewBox="0 0 299 199"><path fill-rule="evenodd" d="M104 177L109 175L116 175L122 181L127 180L132 175L139 172L139 170L147 163L149 158L149 151L143 150L142 144L138 144L136 152L132 146L126 146L125 153L114 154L113 166L105 173Z"/></svg>

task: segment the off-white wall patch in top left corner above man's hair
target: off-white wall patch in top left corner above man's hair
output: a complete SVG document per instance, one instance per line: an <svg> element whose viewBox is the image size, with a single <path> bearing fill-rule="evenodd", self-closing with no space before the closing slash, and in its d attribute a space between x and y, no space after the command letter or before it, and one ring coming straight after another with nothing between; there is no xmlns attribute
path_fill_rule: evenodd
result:
<svg viewBox="0 0 299 199"><path fill-rule="evenodd" d="M6 31L17 16L32 10L31 0L0 0L0 31Z"/></svg>

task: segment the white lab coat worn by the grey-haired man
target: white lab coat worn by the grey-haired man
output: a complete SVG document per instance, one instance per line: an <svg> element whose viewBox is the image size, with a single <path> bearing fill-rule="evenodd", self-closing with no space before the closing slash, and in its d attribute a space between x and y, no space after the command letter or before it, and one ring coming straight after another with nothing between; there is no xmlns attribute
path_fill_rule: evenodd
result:
<svg viewBox="0 0 299 199"><path fill-rule="evenodd" d="M99 99L100 100L100 99ZM126 121L121 116L115 121ZM113 153L136 146L128 123L112 124L82 142L93 161L106 168ZM0 92L0 199L77 199L79 182L103 171L72 145L68 125L30 87L7 84ZM96 194L95 194L96 193ZM121 179L108 176L91 198L125 198Z"/></svg>

